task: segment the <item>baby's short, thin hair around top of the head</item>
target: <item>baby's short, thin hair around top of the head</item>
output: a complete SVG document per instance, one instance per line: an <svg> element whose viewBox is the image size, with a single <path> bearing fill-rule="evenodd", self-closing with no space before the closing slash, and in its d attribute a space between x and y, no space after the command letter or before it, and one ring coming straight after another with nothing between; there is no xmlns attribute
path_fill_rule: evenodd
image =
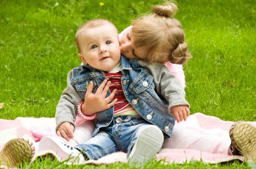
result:
<svg viewBox="0 0 256 169"><path fill-rule="evenodd" d="M79 53L81 52L81 48L79 46L79 37L81 37L81 34L84 31L86 31L86 29L97 28L97 27L100 27L100 26L106 25L106 24L113 25L113 27L116 29L116 26L113 23L111 23L109 20L105 20L105 19L89 20L79 27L79 29L76 32L76 36L75 36L76 48L78 49ZM118 34L117 29L116 29L116 33Z"/></svg>

